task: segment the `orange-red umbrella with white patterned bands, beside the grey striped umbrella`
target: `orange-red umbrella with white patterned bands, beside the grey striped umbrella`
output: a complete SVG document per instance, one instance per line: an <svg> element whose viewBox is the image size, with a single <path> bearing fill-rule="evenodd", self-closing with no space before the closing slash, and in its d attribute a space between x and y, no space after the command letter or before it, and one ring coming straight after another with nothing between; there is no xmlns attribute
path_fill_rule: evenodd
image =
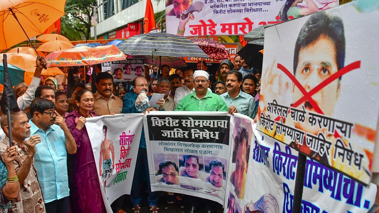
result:
<svg viewBox="0 0 379 213"><path fill-rule="evenodd" d="M45 59L48 67L66 67L126 60L126 56L115 45L105 45L97 47L81 46L67 50L58 50L51 52Z"/></svg>

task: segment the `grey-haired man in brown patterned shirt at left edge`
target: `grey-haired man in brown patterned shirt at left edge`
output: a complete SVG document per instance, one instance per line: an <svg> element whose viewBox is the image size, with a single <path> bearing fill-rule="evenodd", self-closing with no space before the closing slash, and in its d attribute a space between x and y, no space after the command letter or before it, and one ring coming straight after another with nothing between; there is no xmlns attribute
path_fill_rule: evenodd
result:
<svg viewBox="0 0 379 213"><path fill-rule="evenodd" d="M7 114L3 114L0 121L6 135L5 139L0 142L0 160L4 162L4 150L9 145ZM45 213L44 199L37 179L37 169L34 167L35 146L41 141L38 135L30 137L30 124L23 111L11 112L11 124L13 143L18 147L14 168L19 178L20 193L12 201L9 213ZM25 138L28 137L30 139L25 141Z"/></svg>

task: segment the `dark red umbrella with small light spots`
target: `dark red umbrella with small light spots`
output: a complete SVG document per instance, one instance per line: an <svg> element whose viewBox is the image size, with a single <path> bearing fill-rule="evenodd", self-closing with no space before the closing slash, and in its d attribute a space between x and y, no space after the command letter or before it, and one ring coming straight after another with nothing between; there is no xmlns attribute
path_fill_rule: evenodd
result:
<svg viewBox="0 0 379 213"><path fill-rule="evenodd" d="M229 51L218 41L201 38L193 38L191 41L197 44L211 59L223 60L229 58Z"/></svg>

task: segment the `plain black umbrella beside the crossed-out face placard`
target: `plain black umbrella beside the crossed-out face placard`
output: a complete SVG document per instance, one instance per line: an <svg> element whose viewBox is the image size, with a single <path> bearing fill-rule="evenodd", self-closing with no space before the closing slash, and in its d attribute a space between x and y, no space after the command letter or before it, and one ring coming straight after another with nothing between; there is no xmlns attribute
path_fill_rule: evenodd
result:
<svg viewBox="0 0 379 213"><path fill-rule="evenodd" d="M248 42L237 55L241 56L250 67L262 70L263 54L259 51L263 50L263 44L263 39Z"/></svg>

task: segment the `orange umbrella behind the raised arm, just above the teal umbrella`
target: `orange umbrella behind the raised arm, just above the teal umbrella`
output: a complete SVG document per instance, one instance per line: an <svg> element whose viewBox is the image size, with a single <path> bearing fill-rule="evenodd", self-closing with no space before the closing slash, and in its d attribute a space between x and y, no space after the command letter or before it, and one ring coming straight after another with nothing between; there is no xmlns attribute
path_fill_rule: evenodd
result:
<svg viewBox="0 0 379 213"><path fill-rule="evenodd" d="M25 70L25 75L33 76L36 70L36 56L29 55L26 53L2 53L0 57L3 58L3 54L7 56L8 64L12 64ZM58 75L63 74L63 72L58 67L49 67L42 70L41 75Z"/></svg>

